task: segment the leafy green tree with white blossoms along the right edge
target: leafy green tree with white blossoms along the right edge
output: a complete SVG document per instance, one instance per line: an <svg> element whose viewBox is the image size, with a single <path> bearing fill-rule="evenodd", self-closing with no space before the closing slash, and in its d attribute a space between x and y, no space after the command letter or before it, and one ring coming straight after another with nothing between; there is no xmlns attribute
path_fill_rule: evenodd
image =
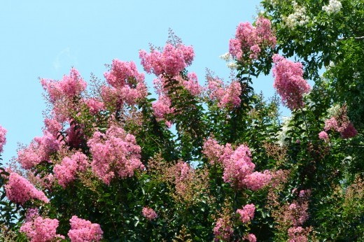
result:
<svg viewBox="0 0 364 242"><path fill-rule="evenodd" d="M320 240L360 241L364 237L364 1L265 0L262 14L276 31L276 51L304 64L304 78L314 80L305 119L316 118L322 126L324 118L330 140L325 148L330 158L323 160L325 164L313 164L321 178L309 179L321 186L312 190L310 225ZM347 139L346 131L349 136L356 134L353 127L358 135ZM337 132L342 139L333 143Z"/></svg>

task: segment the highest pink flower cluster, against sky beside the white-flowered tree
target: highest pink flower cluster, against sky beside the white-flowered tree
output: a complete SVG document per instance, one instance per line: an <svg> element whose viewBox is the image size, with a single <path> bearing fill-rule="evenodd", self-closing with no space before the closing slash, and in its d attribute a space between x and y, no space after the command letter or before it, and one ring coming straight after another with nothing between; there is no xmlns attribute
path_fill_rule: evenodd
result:
<svg viewBox="0 0 364 242"><path fill-rule="evenodd" d="M259 17L255 27L249 22L240 23L235 38L230 39L229 52L237 60L257 59L261 50L274 48L276 37L272 32L271 23L265 17Z"/></svg>

